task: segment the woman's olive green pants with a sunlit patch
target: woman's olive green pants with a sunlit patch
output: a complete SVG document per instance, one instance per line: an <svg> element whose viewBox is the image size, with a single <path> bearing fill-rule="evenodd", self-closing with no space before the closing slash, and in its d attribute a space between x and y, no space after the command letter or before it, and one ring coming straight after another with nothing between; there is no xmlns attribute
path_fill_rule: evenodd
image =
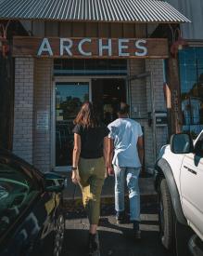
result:
<svg viewBox="0 0 203 256"><path fill-rule="evenodd" d="M104 158L80 158L78 166L82 202L90 224L98 224L100 216L100 196L105 179Z"/></svg>

